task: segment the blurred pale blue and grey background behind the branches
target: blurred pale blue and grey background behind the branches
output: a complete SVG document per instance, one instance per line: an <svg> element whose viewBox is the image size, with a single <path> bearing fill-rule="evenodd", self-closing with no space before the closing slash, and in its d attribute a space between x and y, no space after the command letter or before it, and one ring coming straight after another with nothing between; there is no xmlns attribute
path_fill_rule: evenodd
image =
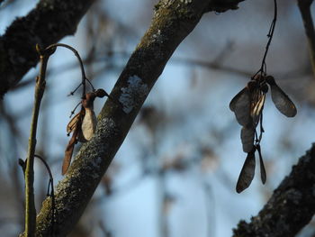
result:
<svg viewBox="0 0 315 237"><path fill-rule="evenodd" d="M11 0L0 6L0 32L37 1ZM61 42L78 50L95 88L110 92L150 24L152 0L96 1L74 36ZM243 193L235 191L246 158L240 126L229 101L260 68L273 1L245 1L237 11L209 13L181 43L148 96L126 140L70 236L221 237L249 220L314 141L315 80L307 41L295 1L279 1L275 36L266 59L267 73L298 108L286 118L269 94L261 143L267 181L259 170ZM314 11L313 11L314 13ZM23 231L23 172L38 67L0 101L0 230ZM80 70L71 51L58 49L49 59L37 153L62 177L69 114L80 101ZM104 98L96 99L98 113ZM35 164L37 210L47 193L48 176ZM315 222L300 233L314 236Z"/></svg>

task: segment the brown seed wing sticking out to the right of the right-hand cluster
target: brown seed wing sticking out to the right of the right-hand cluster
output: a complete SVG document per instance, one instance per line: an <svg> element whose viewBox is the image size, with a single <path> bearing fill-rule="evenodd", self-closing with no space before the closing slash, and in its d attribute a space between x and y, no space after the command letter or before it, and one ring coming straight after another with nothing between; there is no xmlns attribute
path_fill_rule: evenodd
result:
<svg viewBox="0 0 315 237"><path fill-rule="evenodd" d="M284 91L276 84L271 85L271 98L275 107L285 116L294 117L297 113L296 107L292 100L287 96Z"/></svg>

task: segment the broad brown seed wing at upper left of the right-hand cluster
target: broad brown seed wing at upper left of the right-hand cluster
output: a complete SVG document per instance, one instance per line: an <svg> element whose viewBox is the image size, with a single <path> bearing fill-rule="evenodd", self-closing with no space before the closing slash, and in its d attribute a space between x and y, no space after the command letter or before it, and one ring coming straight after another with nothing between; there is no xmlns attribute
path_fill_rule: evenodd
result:
<svg viewBox="0 0 315 237"><path fill-rule="evenodd" d="M250 93L247 87L234 96L229 103L229 109L234 112L240 125L246 126L252 122L250 117Z"/></svg>

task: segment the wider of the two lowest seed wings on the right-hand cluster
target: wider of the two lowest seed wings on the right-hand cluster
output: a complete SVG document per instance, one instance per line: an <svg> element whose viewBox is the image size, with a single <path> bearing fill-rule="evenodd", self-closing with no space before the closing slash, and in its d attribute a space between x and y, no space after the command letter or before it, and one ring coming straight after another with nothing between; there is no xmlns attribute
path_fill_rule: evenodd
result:
<svg viewBox="0 0 315 237"><path fill-rule="evenodd" d="M255 150L253 150L247 154L247 158L244 162L243 168L240 171L238 183L236 186L236 191L238 192L238 194L249 187L255 176L255 166Z"/></svg>

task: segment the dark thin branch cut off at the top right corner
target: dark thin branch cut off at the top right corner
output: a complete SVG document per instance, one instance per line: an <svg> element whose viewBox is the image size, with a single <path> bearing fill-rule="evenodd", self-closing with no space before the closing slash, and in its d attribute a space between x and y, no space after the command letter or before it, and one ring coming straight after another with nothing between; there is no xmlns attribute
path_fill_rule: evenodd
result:
<svg viewBox="0 0 315 237"><path fill-rule="evenodd" d="M302 20L306 32L306 37L309 42L311 68L315 77L315 31L314 23L311 17L311 4L313 0L298 0L299 9L302 15Z"/></svg>

